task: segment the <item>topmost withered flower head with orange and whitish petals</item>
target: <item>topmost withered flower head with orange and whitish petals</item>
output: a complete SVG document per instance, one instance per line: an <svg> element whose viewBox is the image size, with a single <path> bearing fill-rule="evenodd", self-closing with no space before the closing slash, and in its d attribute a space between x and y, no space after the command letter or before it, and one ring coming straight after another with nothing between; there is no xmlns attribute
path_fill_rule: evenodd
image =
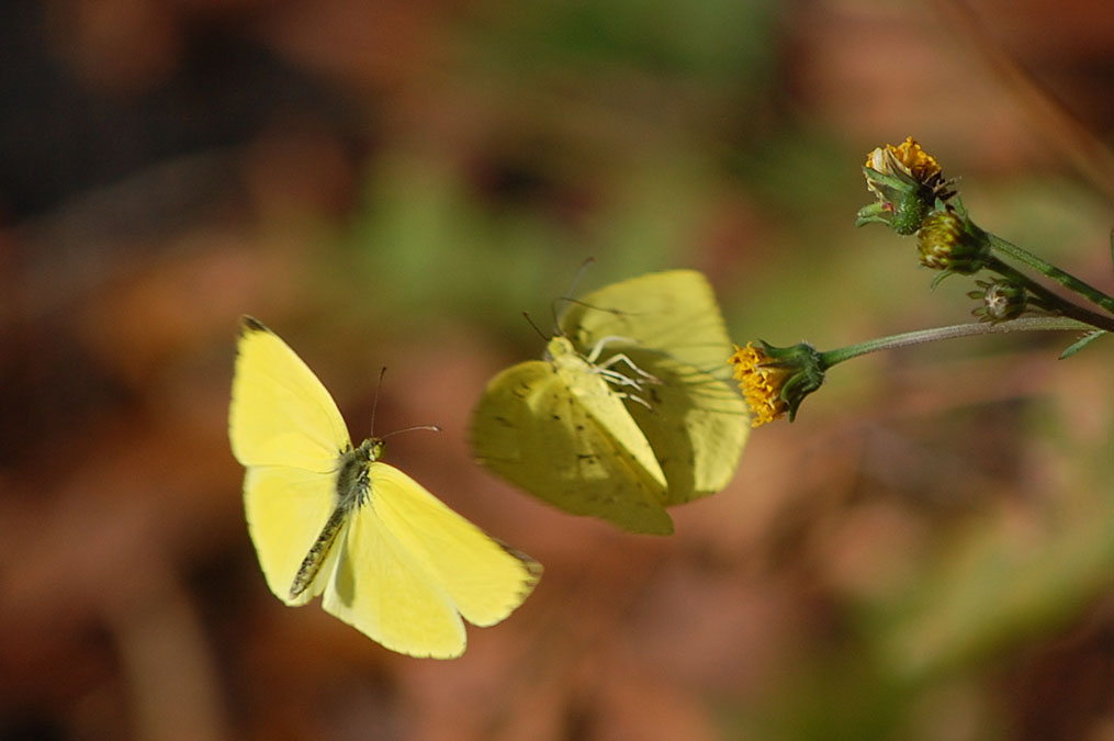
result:
<svg viewBox="0 0 1114 741"><path fill-rule="evenodd" d="M936 157L921 149L911 136L899 146L887 144L868 154L862 173L867 189L878 202L859 211L859 226L879 222L909 235L920 228L929 212L956 195Z"/></svg>

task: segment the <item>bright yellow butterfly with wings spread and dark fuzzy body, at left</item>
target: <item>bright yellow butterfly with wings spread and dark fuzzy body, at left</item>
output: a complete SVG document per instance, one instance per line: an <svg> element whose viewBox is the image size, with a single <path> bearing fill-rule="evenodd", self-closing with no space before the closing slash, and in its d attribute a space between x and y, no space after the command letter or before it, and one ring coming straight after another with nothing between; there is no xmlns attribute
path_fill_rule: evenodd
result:
<svg viewBox="0 0 1114 741"><path fill-rule="evenodd" d="M319 594L329 613L412 656L465 651L463 616L494 625L526 599L541 565L491 538L352 447L325 387L293 350L245 316L228 412L244 465L244 509L267 586L287 605Z"/></svg>

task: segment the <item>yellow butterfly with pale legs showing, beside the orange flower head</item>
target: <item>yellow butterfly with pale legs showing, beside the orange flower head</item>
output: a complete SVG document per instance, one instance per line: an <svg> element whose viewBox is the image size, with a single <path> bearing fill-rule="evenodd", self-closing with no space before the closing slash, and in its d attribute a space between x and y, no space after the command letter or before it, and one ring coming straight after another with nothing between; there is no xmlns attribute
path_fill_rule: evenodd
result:
<svg viewBox="0 0 1114 741"><path fill-rule="evenodd" d="M488 383L477 459L566 511L672 533L665 508L725 487L750 430L712 287L651 273L571 303L558 326L546 360Z"/></svg>

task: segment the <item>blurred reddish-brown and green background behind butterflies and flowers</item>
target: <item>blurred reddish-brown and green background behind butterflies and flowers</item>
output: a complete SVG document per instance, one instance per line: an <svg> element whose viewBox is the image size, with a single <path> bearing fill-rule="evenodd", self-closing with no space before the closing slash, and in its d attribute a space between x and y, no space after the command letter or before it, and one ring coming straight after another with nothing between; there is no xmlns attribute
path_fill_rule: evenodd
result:
<svg viewBox="0 0 1114 741"><path fill-rule="evenodd" d="M690 7L691 4L691 7ZM626 535L477 467L580 262L713 281L732 335L968 321L856 230L913 135L976 222L1105 291L1101 0L10 0L0 9L0 738L1114 738L1110 342L829 373L733 485ZM237 321L353 437L546 566L452 662L267 591Z"/></svg>

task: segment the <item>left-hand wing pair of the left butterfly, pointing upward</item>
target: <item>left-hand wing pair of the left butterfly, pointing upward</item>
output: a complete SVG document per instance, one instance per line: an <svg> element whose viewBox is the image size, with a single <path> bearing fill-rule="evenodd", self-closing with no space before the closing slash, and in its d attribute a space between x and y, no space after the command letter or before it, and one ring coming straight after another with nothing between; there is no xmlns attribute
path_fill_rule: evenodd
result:
<svg viewBox="0 0 1114 741"><path fill-rule="evenodd" d="M317 377L256 320L241 325L228 438L247 468L244 511L267 586L289 605L291 584L338 501L336 461L350 445L344 420Z"/></svg>

